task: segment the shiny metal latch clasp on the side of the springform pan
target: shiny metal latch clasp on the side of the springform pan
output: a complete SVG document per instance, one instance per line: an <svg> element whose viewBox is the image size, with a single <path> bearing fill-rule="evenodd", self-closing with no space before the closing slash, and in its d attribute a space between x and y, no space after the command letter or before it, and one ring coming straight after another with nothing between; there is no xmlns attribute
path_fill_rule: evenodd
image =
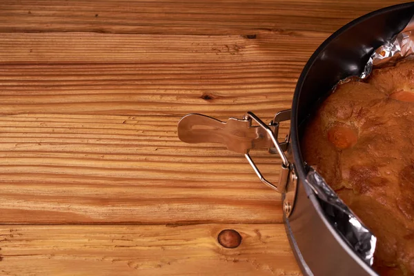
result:
<svg viewBox="0 0 414 276"><path fill-rule="evenodd" d="M190 144L221 143L228 150L244 154L259 179L273 190L284 194L283 209L286 217L289 217L295 203L297 174L295 165L291 164L285 155L288 150L289 135L286 135L281 142L278 141L277 135L279 123L290 120L290 114L290 110L277 112L268 125L253 112L247 112L243 119L230 118L227 122L206 115L188 114L178 123L178 137L181 141ZM279 154L282 159L282 170L277 185L262 175L249 155L250 150L261 148Z"/></svg>

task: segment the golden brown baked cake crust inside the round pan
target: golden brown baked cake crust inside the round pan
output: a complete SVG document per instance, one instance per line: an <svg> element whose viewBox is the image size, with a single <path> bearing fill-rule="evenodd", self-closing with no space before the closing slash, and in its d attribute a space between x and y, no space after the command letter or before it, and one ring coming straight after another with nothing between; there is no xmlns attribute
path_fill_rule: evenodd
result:
<svg viewBox="0 0 414 276"><path fill-rule="evenodd" d="M302 152L378 238L374 267L414 275L414 61L337 86Z"/></svg>

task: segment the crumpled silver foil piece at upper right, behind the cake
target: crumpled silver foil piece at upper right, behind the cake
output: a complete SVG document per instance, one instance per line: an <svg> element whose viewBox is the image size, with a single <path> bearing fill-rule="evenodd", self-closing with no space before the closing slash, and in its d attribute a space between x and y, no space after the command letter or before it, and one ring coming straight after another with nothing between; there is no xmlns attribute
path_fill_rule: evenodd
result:
<svg viewBox="0 0 414 276"><path fill-rule="evenodd" d="M383 66L389 62L407 57L414 52L414 17L408 22L406 28L397 34L391 41L377 48L366 63L361 79L368 77L373 68Z"/></svg>

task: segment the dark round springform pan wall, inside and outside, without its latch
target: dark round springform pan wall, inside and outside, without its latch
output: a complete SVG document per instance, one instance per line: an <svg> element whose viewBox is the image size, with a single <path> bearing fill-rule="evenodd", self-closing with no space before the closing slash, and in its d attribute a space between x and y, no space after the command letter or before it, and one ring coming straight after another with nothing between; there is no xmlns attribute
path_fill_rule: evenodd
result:
<svg viewBox="0 0 414 276"><path fill-rule="evenodd" d="M393 39L413 17L414 3L377 10L331 35L304 67L293 97L290 156L299 185L293 213L286 221L290 245L305 275L377 275L362 262L324 217L313 190L304 184L306 168L299 137L301 125L339 80L360 75L369 57Z"/></svg>

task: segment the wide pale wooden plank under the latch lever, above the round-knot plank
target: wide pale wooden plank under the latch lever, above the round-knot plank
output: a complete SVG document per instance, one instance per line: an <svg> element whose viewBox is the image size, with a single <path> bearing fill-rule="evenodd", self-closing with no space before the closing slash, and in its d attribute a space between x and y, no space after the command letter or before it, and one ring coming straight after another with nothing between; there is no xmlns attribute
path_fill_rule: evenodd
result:
<svg viewBox="0 0 414 276"><path fill-rule="evenodd" d="M243 155L217 144L184 144L178 119L0 117L0 221L282 221L280 196L257 179ZM277 181L279 159L253 154Z"/></svg>

